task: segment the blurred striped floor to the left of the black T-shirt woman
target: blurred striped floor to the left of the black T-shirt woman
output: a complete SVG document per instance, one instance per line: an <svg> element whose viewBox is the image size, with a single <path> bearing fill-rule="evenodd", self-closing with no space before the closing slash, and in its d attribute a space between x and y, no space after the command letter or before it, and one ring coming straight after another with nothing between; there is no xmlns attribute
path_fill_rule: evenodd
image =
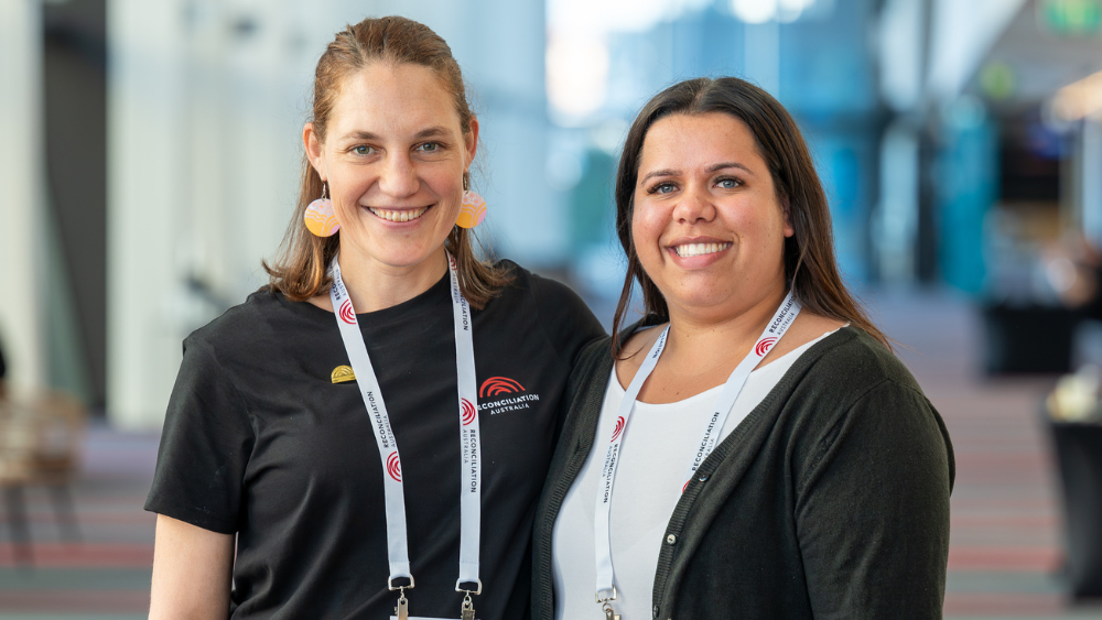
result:
<svg viewBox="0 0 1102 620"><path fill-rule="evenodd" d="M62 542L45 489L26 502L33 566L14 562L0 509L0 620L145 618L154 516L142 511L156 460L155 434L93 427L73 488L79 542Z"/></svg>

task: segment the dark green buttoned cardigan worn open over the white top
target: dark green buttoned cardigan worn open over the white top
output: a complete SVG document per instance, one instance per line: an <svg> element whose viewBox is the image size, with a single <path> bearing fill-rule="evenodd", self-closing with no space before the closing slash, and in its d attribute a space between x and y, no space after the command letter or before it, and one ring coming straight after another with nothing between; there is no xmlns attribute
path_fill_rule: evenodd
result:
<svg viewBox="0 0 1102 620"><path fill-rule="evenodd" d="M611 372L605 338L568 384L536 516L536 620L554 617L554 520L593 446ZM683 468L688 455L656 458ZM941 618L953 477L949 434L918 383L844 327L800 356L701 465L666 529L653 618Z"/></svg>

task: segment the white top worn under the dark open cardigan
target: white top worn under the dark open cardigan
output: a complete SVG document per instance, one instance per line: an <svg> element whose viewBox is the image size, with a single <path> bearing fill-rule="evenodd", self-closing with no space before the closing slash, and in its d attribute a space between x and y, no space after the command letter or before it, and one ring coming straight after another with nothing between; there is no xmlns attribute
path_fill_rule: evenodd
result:
<svg viewBox="0 0 1102 620"><path fill-rule="evenodd" d="M830 334L833 331L752 372L723 425L720 440L749 415L804 351ZM690 459L722 389L720 384L676 403L636 402L631 437L620 448L609 527L617 589L613 606L624 620L651 617L651 592L662 536L681 497ZM597 437L612 435L624 391L614 366L601 407ZM590 450L555 520L551 547L555 620L601 618L601 606L594 601L593 542L596 508L593 498L604 458L604 452L598 452Z"/></svg>

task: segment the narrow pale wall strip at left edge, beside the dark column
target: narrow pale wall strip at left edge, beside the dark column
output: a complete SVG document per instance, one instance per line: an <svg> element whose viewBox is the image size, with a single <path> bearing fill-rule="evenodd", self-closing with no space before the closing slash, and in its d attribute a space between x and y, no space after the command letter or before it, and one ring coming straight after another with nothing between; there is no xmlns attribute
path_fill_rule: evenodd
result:
<svg viewBox="0 0 1102 620"><path fill-rule="evenodd" d="M42 387L45 369L41 19L37 0L0 2L0 340L19 391Z"/></svg>

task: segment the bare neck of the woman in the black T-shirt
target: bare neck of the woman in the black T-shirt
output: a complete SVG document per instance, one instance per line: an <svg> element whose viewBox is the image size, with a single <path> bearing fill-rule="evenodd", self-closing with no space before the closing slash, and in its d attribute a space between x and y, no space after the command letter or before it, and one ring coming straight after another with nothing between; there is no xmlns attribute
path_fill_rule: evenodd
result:
<svg viewBox="0 0 1102 620"><path fill-rule="evenodd" d="M341 252L337 260L341 263L341 279L357 313L376 312L408 302L428 291L447 273L444 248L420 263L407 267L383 264L359 257L355 251ZM317 295L310 302L333 311L328 294Z"/></svg>

